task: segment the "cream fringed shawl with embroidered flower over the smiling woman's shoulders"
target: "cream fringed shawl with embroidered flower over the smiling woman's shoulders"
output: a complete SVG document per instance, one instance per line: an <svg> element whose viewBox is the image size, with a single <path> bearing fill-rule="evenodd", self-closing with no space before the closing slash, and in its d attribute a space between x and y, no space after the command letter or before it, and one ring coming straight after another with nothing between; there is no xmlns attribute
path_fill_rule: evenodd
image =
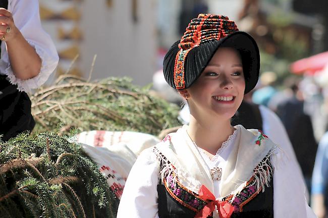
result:
<svg viewBox="0 0 328 218"><path fill-rule="evenodd" d="M183 126L176 133L169 134L166 138L168 140L156 145L154 150L161 166L159 180L176 181L178 179L182 185L195 193L198 193L201 185L204 185L214 193L210 169L190 139L187 128L187 125ZM223 167L219 187L221 198L229 195L236 196L246 187L247 181L252 176L255 178L252 185L256 184L258 191L264 191L272 173L271 167L266 165L264 158L275 154L278 148L258 130L246 130L241 125L235 128L238 130L235 144L226 166ZM258 140L260 145L256 144ZM267 173L267 170L271 173ZM174 178L168 176L173 171Z"/></svg>

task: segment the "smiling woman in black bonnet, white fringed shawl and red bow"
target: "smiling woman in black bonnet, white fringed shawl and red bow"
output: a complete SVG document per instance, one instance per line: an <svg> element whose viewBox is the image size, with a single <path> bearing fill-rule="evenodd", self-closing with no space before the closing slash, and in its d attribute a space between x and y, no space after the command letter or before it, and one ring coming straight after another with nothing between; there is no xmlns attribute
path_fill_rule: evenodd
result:
<svg viewBox="0 0 328 218"><path fill-rule="evenodd" d="M254 39L228 17L191 20L163 62L166 81L188 101L190 123L140 154L118 218L315 217L281 147L259 130L231 126L259 63Z"/></svg>

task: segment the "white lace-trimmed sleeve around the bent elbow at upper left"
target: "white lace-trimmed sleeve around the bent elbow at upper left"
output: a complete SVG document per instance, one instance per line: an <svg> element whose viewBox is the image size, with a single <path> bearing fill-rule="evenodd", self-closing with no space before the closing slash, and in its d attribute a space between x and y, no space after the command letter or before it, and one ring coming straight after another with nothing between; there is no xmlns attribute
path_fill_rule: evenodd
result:
<svg viewBox="0 0 328 218"><path fill-rule="evenodd" d="M35 48L42 61L40 73L27 80L15 76L10 66L5 41L1 44L0 74L7 75L19 91L29 92L41 86L57 67L59 57L50 36L44 32L40 22L38 0L9 0L8 10L12 13L16 27Z"/></svg>

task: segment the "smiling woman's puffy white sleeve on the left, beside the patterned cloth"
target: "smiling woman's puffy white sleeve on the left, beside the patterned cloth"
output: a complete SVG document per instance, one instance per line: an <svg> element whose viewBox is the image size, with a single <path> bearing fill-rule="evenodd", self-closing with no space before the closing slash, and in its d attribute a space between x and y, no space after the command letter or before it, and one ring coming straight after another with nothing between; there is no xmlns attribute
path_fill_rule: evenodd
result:
<svg viewBox="0 0 328 218"><path fill-rule="evenodd" d="M126 181L117 218L157 218L158 163L152 148L141 152Z"/></svg>

